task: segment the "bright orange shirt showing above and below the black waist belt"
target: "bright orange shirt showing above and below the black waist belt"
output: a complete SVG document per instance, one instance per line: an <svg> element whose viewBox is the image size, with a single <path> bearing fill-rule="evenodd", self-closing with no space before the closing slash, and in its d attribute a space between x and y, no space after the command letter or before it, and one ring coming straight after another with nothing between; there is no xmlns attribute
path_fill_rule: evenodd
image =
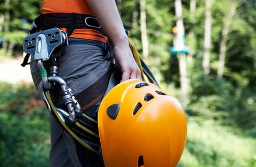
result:
<svg viewBox="0 0 256 167"><path fill-rule="evenodd" d="M80 13L94 16L85 0L43 0L40 12L45 13ZM67 31L66 28L60 28ZM108 38L93 29L75 29L72 38L91 39L106 43Z"/></svg>

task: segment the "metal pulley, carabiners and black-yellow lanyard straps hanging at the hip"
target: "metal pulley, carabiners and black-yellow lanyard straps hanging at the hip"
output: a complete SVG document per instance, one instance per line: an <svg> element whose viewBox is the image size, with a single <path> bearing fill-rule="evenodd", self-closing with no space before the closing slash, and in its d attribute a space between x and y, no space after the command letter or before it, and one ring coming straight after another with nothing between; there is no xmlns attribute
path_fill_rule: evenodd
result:
<svg viewBox="0 0 256 167"><path fill-rule="evenodd" d="M97 134L97 121L82 111L72 89L67 86L63 78L57 76L59 53L66 45L68 45L67 33L58 28L30 34L23 40L24 52L31 54L40 70L42 81L39 83L38 92L47 109L66 132L87 149L98 153L100 140ZM48 76L43 62L50 59L52 60L51 76ZM51 96L56 85L61 88L60 95L68 111L55 108L52 103Z"/></svg>

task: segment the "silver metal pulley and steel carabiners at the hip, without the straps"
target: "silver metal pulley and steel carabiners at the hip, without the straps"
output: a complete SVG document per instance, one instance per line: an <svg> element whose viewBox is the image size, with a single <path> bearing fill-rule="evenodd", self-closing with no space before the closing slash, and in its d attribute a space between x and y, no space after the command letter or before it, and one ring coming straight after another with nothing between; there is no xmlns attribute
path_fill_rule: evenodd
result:
<svg viewBox="0 0 256 167"><path fill-rule="evenodd" d="M58 64L57 60L60 56L61 46L68 45L67 33L61 31L58 28L51 28L34 34L26 36L23 40L23 49L25 53L31 54L34 63L37 63L40 70L42 81L38 86L38 92L41 98L44 100L46 107L50 110L50 104L44 94L43 89L49 87L49 82L58 83L63 91L63 101L68 108L68 112L56 108L56 111L63 122L65 118L70 116L72 120L76 118L75 109L81 111L81 106L77 102L73 91L68 88L67 83L64 79L58 75ZM47 76L46 69L44 68L43 61L47 61L53 57L53 65L50 67L51 76Z"/></svg>

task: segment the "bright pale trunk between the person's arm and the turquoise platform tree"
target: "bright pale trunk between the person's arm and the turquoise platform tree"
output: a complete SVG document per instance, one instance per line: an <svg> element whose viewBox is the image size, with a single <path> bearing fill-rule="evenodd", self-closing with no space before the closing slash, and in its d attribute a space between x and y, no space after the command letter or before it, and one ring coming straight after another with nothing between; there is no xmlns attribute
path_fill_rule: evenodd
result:
<svg viewBox="0 0 256 167"><path fill-rule="evenodd" d="M148 59L148 39L147 39L147 25L146 25L146 10L145 0L140 0L140 29L143 58Z"/></svg>

